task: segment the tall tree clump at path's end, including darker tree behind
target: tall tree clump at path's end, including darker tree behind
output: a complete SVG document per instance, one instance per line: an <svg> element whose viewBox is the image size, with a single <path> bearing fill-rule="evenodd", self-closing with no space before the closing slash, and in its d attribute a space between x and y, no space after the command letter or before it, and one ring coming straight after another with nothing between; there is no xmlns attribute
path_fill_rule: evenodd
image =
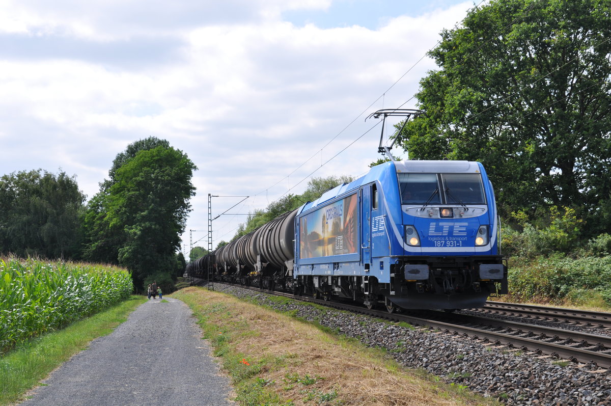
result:
<svg viewBox="0 0 611 406"><path fill-rule="evenodd" d="M117 155L111 179L100 185L86 215L88 256L108 255L126 266L137 286L147 276L175 276L179 235L195 194L196 166L167 141L152 141L134 142Z"/></svg>

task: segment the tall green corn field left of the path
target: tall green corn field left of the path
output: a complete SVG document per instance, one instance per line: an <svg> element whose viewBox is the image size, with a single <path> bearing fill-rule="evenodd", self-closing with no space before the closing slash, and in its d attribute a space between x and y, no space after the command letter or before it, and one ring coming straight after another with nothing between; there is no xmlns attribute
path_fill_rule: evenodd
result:
<svg viewBox="0 0 611 406"><path fill-rule="evenodd" d="M130 297L120 268L0 258L0 354Z"/></svg>

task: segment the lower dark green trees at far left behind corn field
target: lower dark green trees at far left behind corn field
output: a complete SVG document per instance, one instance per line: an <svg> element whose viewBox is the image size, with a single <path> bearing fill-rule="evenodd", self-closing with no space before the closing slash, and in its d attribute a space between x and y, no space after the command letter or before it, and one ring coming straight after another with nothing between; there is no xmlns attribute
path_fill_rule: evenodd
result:
<svg viewBox="0 0 611 406"><path fill-rule="evenodd" d="M85 196L65 172L0 178L0 253L79 259Z"/></svg>

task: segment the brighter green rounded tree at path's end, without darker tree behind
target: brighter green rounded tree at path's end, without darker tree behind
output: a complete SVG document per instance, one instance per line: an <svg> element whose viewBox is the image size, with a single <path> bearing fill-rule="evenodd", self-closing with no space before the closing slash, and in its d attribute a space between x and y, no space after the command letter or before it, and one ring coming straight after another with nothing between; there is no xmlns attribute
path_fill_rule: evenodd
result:
<svg viewBox="0 0 611 406"><path fill-rule="evenodd" d="M171 269L195 194L194 169L182 152L159 146L141 150L115 172L109 217L127 235L119 263L137 276Z"/></svg>

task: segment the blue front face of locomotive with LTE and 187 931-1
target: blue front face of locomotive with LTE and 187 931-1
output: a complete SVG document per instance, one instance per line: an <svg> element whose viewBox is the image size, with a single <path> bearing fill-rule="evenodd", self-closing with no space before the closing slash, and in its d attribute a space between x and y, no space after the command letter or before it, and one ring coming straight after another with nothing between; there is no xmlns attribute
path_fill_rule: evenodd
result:
<svg viewBox="0 0 611 406"><path fill-rule="evenodd" d="M436 170L434 170L436 169ZM397 163L403 232L389 297L412 307L481 306L507 291L492 186L478 163ZM402 228L401 228L402 227ZM397 278L400 275L401 278Z"/></svg>

